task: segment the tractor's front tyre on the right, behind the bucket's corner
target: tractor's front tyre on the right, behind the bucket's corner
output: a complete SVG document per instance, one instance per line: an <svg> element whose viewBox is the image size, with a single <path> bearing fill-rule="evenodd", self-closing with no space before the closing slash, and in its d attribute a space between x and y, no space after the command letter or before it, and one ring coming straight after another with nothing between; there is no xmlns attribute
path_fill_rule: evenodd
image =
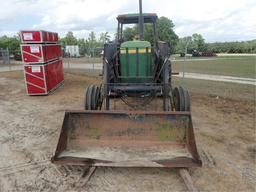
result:
<svg viewBox="0 0 256 192"><path fill-rule="evenodd" d="M185 88L175 87L172 95L175 111L190 111L190 96Z"/></svg>

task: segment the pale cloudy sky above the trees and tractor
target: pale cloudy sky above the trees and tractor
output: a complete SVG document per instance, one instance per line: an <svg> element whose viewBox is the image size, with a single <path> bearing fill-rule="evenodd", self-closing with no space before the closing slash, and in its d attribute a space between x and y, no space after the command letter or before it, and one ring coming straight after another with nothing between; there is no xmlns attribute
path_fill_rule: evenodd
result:
<svg viewBox="0 0 256 192"><path fill-rule="evenodd" d="M20 30L73 31L87 38L116 31L118 14L138 12L138 0L0 0L0 36ZM171 19L179 37L200 33L206 42L256 39L256 0L143 0L143 12Z"/></svg>

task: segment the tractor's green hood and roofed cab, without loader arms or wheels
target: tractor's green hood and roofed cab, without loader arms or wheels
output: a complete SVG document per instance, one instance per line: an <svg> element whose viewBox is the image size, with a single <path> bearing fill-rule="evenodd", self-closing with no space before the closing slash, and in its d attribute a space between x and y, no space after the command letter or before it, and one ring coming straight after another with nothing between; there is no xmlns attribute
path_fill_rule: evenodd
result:
<svg viewBox="0 0 256 192"><path fill-rule="evenodd" d="M155 42L157 15L154 13L142 14L143 23L150 23L153 27ZM123 29L127 24L138 24L140 22L139 14L125 14L117 17L117 41L120 43L119 62L120 62L120 82L122 83L152 83L153 82L153 57L152 45L144 41L143 31L140 32L140 38L134 37L133 41L124 41ZM141 30L141 28L139 28Z"/></svg>

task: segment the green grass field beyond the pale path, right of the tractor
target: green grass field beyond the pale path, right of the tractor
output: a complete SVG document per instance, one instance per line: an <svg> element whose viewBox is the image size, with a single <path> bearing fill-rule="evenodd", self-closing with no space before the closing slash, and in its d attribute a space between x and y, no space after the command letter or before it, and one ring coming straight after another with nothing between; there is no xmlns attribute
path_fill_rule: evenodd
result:
<svg viewBox="0 0 256 192"><path fill-rule="evenodd" d="M210 60L200 60L210 59ZM255 56L229 56L173 61L173 71L256 78Z"/></svg>

